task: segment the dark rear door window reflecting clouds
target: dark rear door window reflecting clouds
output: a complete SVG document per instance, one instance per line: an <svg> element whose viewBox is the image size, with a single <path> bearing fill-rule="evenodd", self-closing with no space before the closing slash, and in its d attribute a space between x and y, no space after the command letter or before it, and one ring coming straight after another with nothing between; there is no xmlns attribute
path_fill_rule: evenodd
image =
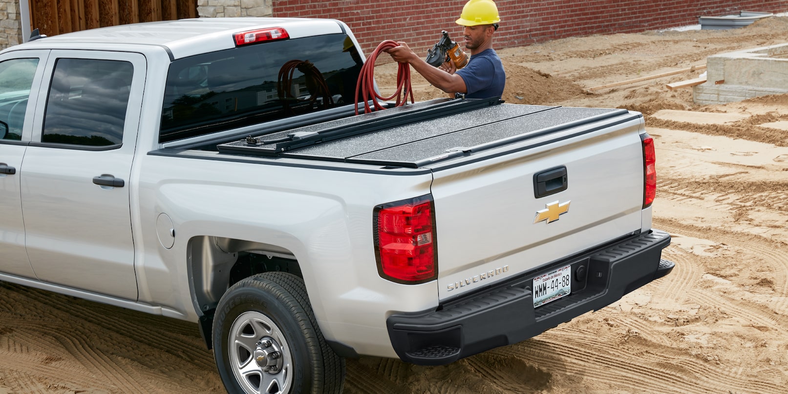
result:
<svg viewBox="0 0 788 394"><path fill-rule="evenodd" d="M41 142L120 146L133 73L128 61L58 59Z"/></svg>

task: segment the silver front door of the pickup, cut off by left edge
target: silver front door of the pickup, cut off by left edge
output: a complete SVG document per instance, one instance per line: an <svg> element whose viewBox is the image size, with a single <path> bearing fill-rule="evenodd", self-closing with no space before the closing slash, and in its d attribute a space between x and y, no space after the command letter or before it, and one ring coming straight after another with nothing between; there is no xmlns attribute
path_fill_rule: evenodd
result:
<svg viewBox="0 0 788 394"><path fill-rule="evenodd" d="M48 54L17 50L0 57L0 273L28 278L35 273L24 251L19 171Z"/></svg>

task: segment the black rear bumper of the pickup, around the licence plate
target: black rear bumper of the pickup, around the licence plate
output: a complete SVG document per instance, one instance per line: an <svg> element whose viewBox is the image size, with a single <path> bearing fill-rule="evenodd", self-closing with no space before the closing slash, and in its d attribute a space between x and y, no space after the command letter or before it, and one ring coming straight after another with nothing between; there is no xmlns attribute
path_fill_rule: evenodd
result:
<svg viewBox="0 0 788 394"><path fill-rule="evenodd" d="M386 321L388 336L400 359L419 365L448 364L515 344L589 310L607 307L626 293L667 275L675 264L660 257L670 243L667 232L652 229L463 296L439 310L392 314ZM571 294L534 308L533 277L567 265L571 265L573 277Z"/></svg>

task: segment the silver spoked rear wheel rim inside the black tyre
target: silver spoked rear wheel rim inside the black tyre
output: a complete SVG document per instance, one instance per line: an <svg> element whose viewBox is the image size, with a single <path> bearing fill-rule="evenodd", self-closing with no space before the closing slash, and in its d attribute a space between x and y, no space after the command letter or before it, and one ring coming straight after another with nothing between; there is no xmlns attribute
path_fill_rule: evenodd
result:
<svg viewBox="0 0 788 394"><path fill-rule="evenodd" d="M292 385L292 354L284 334L265 314L244 312L230 327L232 374L248 394L284 394Z"/></svg>

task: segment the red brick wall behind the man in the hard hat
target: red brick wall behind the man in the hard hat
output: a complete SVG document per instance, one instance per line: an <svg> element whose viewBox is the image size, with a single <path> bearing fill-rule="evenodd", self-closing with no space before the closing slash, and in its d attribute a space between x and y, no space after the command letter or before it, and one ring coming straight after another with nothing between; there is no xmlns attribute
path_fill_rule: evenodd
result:
<svg viewBox="0 0 788 394"><path fill-rule="evenodd" d="M462 38L455 24L466 0L276 0L273 17L327 17L343 20L365 54L385 39L406 41L416 53L446 30ZM493 47L522 46L575 35L632 33L697 24L697 17L739 11L788 12L786 0L498 0L500 29ZM383 61L383 58L381 58Z"/></svg>

